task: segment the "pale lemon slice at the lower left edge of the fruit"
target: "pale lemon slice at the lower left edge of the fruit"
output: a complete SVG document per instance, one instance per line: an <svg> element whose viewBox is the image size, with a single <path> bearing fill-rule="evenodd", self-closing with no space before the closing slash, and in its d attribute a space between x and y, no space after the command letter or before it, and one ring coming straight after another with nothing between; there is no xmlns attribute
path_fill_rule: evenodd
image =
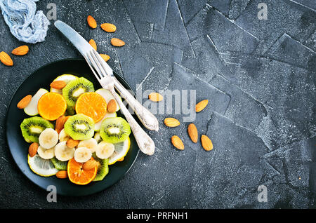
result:
<svg viewBox="0 0 316 223"><path fill-rule="evenodd" d="M27 155L27 163L34 173L42 177L50 177L58 172L51 160L41 158L38 154L33 157Z"/></svg>

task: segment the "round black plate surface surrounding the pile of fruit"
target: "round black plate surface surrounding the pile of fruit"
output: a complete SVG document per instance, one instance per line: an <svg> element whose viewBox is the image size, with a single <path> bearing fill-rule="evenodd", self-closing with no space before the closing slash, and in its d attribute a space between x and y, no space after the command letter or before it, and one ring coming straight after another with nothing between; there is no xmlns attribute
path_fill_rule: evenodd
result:
<svg viewBox="0 0 316 223"><path fill-rule="evenodd" d="M102 191L121 179L121 177L123 177L129 171L136 160L139 148L136 144L133 134L131 134L131 148L129 149L128 154L125 156L124 161L110 165L110 171L102 181L91 182L87 185L77 185L73 184L67 179L58 179L55 176L41 177L33 173L27 163L29 143L25 142L20 130L20 123L22 123L23 119L29 116L27 116L27 114L25 114L22 109L18 109L16 104L18 104L18 102L22 99L22 97L25 97L25 95L34 95L37 90L39 90L39 88L45 88L49 90L51 81L61 74L84 76L93 83L93 86L96 90L101 88L85 60L59 60L37 69L37 71L31 74L21 84L18 90L15 91L15 94L13 95L8 107L8 112L6 114L6 137L8 141L8 147L15 163L18 165L20 170L22 170L22 173L42 189L46 190L49 185L54 185L57 189L57 193L60 195L86 196L88 194L94 194L98 191ZM124 79L122 79L117 74L114 75L126 89L131 89L129 84L126 83ZM118 116L121 116L120 112L117 112L117 114Z"/></svg>

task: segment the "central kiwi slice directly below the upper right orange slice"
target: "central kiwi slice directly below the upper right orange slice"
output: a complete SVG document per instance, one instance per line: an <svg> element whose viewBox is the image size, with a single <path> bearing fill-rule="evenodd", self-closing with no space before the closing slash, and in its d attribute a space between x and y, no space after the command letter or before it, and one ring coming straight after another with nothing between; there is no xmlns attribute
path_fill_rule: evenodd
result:
<svg viewBox="0 0 316 223"><path fill-rule="evenodd" d="M85 114L75 114L67 119L64 129L73 140L88 140L93 137L94 122Z"/></svg>

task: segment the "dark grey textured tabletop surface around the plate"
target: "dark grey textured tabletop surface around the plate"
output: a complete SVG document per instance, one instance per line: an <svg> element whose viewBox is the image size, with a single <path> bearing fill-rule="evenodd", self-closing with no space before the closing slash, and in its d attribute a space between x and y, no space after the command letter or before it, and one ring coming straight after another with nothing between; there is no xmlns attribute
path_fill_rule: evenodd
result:
<svg viewBox="0 0 316 223"><path fill-rule="evenodd" d="M110 66L134 90L139 83L143 90L196 89L198 101L209 99L195 124L214 149L190 142L188 123L169 129L163 120L170 115L157 115L153 156L140 154L110 189L48 203L47 192L15 165L4 120L14 91L35 69L81 58L51 25L46 41L13 56L13 67L0 65L1 208L315 208L315 1L41 0L38 9L47 13L49 2L57 5L58 20L111 56ZM268 20L257 18L261 2ZM117 32L89 29L87 15L98 25L117 25ZM110 46L113 36L126 46ZM22 44L1 18L0 50ZM184 151L172 146L174 134ZM261 184L267 203L257 201Z"/></svg>

